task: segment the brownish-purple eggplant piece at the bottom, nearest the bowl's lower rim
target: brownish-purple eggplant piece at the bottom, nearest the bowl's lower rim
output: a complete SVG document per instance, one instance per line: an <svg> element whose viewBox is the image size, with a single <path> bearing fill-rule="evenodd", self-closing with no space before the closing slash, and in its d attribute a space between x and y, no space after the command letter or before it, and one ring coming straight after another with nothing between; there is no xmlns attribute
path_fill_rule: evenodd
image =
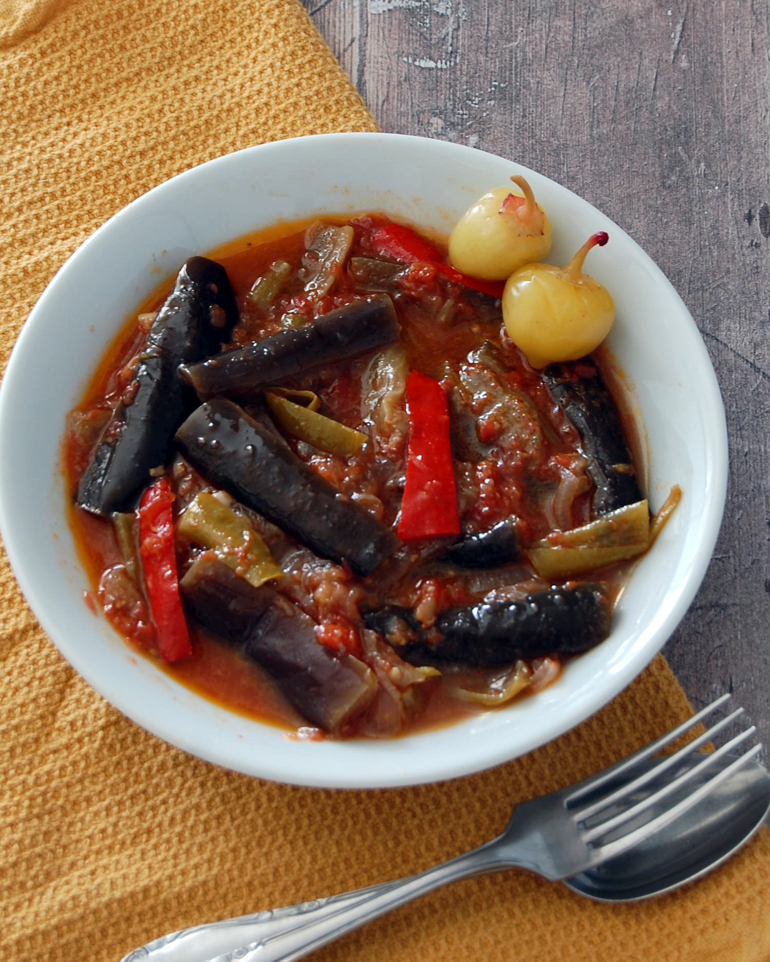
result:
<svg viewBox="0 0 770 962"><path fill-rule="evenodd" d="M373 672L316 639L316 622L283 595L253 588L212 554L200 555L180 582L189 615L266 671L307 722L336 731L369 704Z"/></svg>

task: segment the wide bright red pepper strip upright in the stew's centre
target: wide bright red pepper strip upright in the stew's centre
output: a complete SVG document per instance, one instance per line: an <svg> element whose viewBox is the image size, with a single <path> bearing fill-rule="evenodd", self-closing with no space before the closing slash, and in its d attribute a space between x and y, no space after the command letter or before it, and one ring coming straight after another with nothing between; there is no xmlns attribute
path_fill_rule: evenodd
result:
<svg viewBox="0 0 770 962"><path fill-rule="evenodd" d="M398 537L408 542L458 535L447 395L436 381L413 370L406 382L406 410L409 457Z"/></svg>

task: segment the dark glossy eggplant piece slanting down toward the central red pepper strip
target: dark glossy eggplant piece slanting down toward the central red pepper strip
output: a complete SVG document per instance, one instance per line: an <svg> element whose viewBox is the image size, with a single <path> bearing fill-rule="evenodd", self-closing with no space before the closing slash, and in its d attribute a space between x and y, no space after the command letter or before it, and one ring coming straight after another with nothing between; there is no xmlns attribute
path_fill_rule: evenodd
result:
<svg viewBox="0 0 770 962"><path fill-rule="evenodd" d="M206 401L176 432L207 481L283 528L323 558L369 574L398 547L390 528L337 491L224 397Z"/></svg>

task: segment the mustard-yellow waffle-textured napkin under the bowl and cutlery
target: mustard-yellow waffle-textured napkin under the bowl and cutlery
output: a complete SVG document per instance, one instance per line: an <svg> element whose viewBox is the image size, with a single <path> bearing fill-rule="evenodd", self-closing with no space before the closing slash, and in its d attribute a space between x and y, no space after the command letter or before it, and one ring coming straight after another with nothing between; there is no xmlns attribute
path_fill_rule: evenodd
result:
<svg viewBox="0 0 770 962"><path fill-rule="evenodd" d="M375 130L295 0L0 0L0 370L65 258L192 165ZM183 926L369 885L495 835L517 800L687 717L662 658L599 715L492 772L368 793L287 788L159 742L96 696L0 562L0 957L116 962ZM770 959L770 833L718 873L608 907L524 872L459 883L319 959Z"/></svg>

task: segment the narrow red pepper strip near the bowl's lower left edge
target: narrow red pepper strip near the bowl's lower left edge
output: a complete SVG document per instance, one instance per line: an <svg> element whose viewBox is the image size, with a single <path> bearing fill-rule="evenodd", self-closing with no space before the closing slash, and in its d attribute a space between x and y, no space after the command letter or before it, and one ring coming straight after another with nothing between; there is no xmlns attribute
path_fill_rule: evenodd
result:
<svg viewBox="0 0 770 962"><path fill-rule="evenodd" d="M164 661L192 655L190 632L176 576L176 551L171 505L174 494L160 478L141 495L139 540L144 584L152 620L158 629L158 650Z"/></svg>

